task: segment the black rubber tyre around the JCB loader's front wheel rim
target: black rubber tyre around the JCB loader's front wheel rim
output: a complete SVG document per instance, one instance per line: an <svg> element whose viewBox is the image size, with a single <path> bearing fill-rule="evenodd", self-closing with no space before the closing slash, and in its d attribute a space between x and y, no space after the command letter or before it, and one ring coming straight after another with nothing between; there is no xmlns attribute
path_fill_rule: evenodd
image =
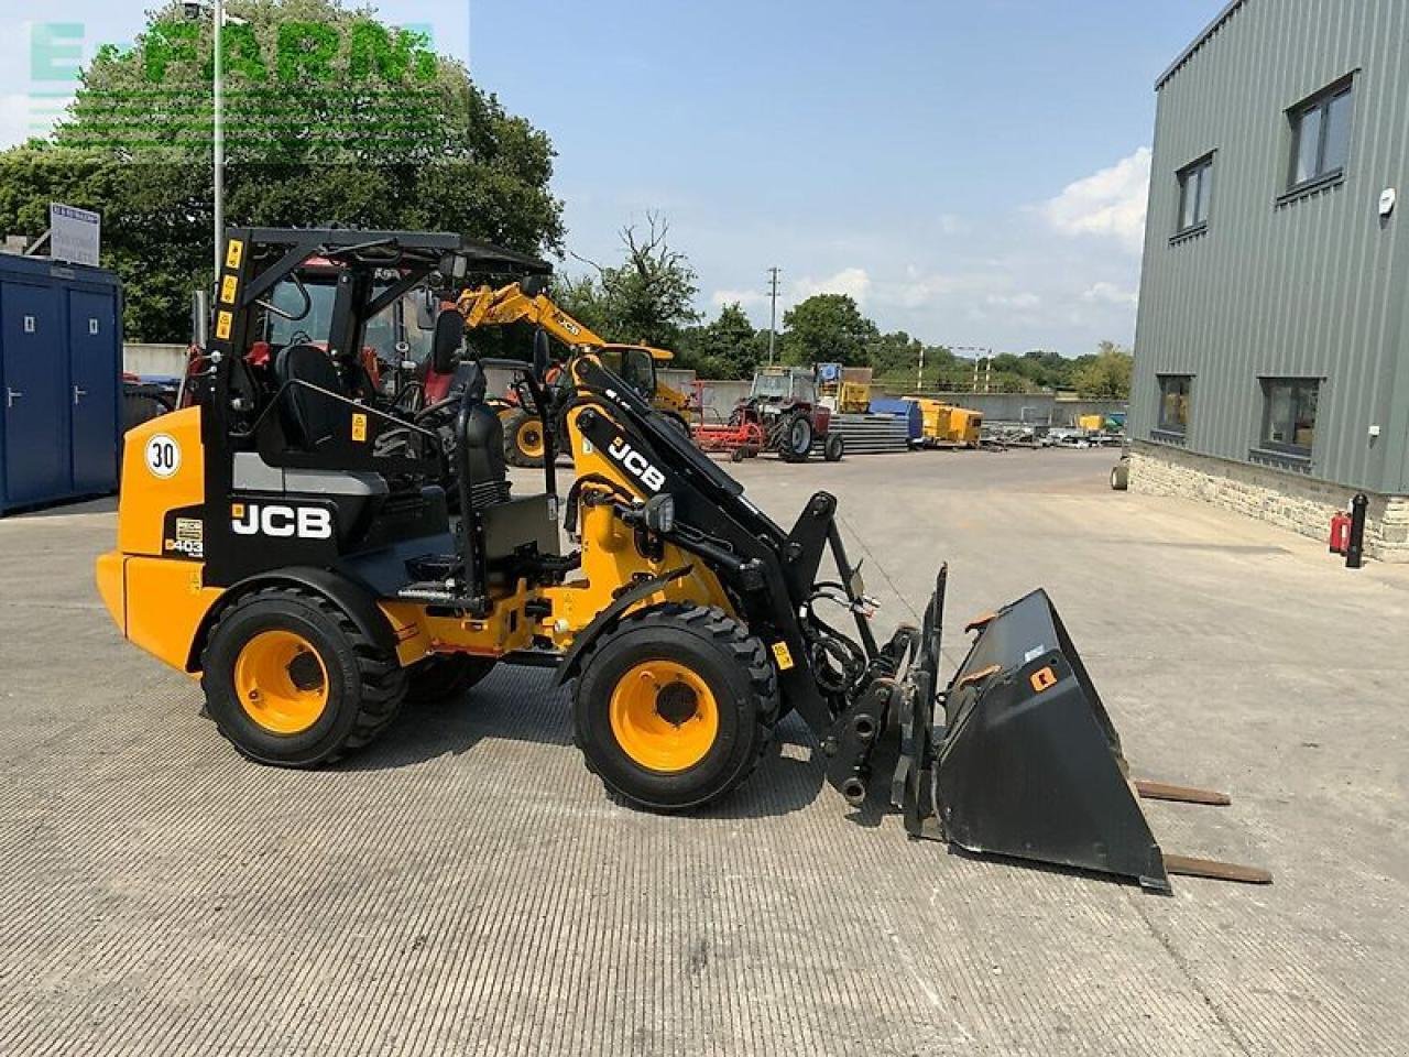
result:
<svg viewBox="0 0 1409 1057"><path fill-rule="evenodd" d="M717 730L704 755L679 771L643 767L621 747L612 723L613 695L638 665L666 661L709 689ZM778 676L764 644L724 610L664 605L623 620L583 661L573 691L573 737L607 791L648 810L710 803L758 765L778 722Z"/></svg>

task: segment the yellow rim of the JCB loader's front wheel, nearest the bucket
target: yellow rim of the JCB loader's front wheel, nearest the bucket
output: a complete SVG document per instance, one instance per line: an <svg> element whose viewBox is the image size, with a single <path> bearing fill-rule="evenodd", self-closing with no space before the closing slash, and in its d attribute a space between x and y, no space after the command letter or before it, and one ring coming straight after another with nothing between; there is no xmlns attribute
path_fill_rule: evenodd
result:
<svg viewBox="0 0 1409 1057"><path fill-rule="evenodd" d="M675 661L643 661L612 692L612 733L633 762L679 774L709 755L719 706L704 681Z"/></svg>

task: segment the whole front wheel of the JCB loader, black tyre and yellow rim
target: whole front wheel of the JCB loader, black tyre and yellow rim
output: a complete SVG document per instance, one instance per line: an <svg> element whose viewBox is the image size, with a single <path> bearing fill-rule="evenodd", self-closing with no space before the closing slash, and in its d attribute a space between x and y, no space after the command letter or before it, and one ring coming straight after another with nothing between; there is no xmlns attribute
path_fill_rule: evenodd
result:
<svg viewBox="0 0 1409 1057"><path fill-rule="evenodd" d="M573 695L588 767L651 810L719 799L754 769L778 722L764 644L720 609L666 605L593 647Z"/></svg>

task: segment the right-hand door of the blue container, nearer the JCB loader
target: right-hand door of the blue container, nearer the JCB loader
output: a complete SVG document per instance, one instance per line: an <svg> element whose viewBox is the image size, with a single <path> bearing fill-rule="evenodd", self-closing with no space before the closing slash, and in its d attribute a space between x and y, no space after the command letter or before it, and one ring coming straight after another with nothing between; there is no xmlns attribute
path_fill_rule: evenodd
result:
<svg viewBox="0 0 1409 1057"><path fill-rule="evenodd" d="M117 486L117 307L110 293L69 292L73 490Z"/></svg>

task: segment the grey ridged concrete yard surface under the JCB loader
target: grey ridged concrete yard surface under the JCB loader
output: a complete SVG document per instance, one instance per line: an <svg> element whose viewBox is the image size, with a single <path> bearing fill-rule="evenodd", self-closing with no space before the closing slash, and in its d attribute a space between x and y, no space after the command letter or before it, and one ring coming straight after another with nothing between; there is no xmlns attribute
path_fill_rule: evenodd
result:
<svg viewBox="0 0 1409 1057"><path fill-rule="evenodd" d="M111 502L0 521L0 1054L1403 1053L1409 569L1110 492L1113 459L731 469L785 524L838 496L883 631L947 558L945 674L1048 588L1136 772L1233 793L1147 805L1162 847L1270 888L907 841L796 719L726 803L637 813L542 671L255 767L101 607Z"/></svg>

